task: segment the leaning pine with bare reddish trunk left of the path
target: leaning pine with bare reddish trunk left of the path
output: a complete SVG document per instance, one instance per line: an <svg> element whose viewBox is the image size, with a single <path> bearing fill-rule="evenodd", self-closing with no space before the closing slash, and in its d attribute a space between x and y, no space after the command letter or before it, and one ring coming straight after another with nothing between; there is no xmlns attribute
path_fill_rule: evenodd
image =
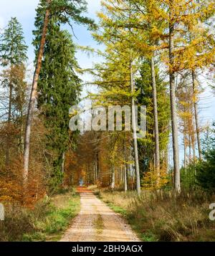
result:
<svg viewBox="0 0 215 256"><path fill-rule="evenodd" d="M36 65L32 82L32 93L29 100L29 109L27 114L27 125L24 140L24 184L27 184L27 177L29 171L29 148L30 136L32 127L32 118L34 114L34 105L37 99L37 85L39 80L39 72L42 67L42 57L44 53L44 46L46 43L47 30L50 16L55 17L59 24L70 24L72 22L77 24L92 25L92 19L82 16L83 12L87 11L87 4L85 0L41 0L37 8L37 18L35 26L37 31L37 48L36 48Z"/></svg>

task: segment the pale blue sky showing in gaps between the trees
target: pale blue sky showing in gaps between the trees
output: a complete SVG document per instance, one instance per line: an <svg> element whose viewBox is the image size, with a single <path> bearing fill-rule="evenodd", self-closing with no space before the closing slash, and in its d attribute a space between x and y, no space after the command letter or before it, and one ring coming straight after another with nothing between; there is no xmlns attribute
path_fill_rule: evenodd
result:
<svg viewBox="0 0 215 256"><path fill-rule="evenodd" d="M92 18L96 19L96 12L100 11L100 0L87 0L88 2L88 14ZM22 23L24 29L24 37L29 46L29 62L32 63L34 60L34 48L32 47L32 30L34 29L34 16L35 9L39 0L0 0L0 28L6 26L9 19L12 16L16 16L20 23ZM80 45L91 47L97 47L97 44L93 41L90 32L87 31L85 27L75 26L75 35L77 39L74 38L75 43ZM70 32L71 29L70 29ZM97 57L87 57L87 54L84 54L80 51L76 54L77 60L81 67L91 67L93 62L97 62ZM207 75L205 75L207 76ZM90 79L89 76L85 75L82 77L83 80ZM204 87L206 85L206 81L204 77L201 77ZM206 90L205 93L201 96L200 102L200 119L201 124L206 124L211 122L211 120L215 120L215 100L214 96L211 95L209 90ZM181 150L183 149L182 143ZM182 158L182 154L181 154Z"/></svg>

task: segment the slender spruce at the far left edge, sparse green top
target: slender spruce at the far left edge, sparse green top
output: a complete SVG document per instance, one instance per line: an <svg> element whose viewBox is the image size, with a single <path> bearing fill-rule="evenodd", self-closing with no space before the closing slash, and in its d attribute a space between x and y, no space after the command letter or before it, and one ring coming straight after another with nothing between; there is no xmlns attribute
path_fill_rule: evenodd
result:
<svg viewBox="0 0 215 256"><path fill-rule="evenodd" d="M15 88L17 89L20 86L19 72L14 71L22 69L24 62L27 60L27 45L24 42L22 25L16 18L11 18L1 36L0 60L1 66L5 67L2 74L3 85L9 89L7 120L8 125L11 125L12 111L13 108L16 108L15 105L13 106L13 92ZM24 80L24 76L22 76L22 79ZM9 166L9 139L6 143L6 166Z"/></svg>

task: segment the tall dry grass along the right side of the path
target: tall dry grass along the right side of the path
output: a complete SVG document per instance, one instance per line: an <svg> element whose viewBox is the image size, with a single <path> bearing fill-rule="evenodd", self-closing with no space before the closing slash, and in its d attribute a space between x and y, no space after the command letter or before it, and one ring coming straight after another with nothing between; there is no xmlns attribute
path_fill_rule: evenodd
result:
<svg viewBox="0 0 215 256"><path fill-rule="evenodd" d="M214 241L215 222L209 220L209 204L202 191L174 196L171 192L127 193L96 190L104 202L124 214L144 241Z"/></svg>

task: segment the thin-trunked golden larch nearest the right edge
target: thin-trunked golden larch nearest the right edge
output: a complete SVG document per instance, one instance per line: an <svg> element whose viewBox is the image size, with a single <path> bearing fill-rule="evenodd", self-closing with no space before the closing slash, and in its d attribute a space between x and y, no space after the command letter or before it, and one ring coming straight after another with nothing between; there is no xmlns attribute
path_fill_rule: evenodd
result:
<svg viewBox="0 0 215 256"><path fill-rule="evenodd" d="M199 81L198 71L204 71L211 65L214 60L214 33L210 32L209 27L206 24L210 24L211 17L214 15L214 4L211 1L205 3L205 1L194 1L193 13L199 13L199 16L194 22L193 26L188 26L188 40L191 44L191 49L196 61L191 62L191 80L192 80L192 91L194 100L194 119L196 127L196 141L199 151L199 159L202 159L201 149L201 135L200 135L200 124L199 124L199 113L198 113L198 101L199 101ZM204 6L206 4L206 6ZM205 9L206 7L206 9ZM202 12L204 14L202 15ZM199 58L199 55L201 57ZM198 60L197 60L198 59Z"/></svg>

